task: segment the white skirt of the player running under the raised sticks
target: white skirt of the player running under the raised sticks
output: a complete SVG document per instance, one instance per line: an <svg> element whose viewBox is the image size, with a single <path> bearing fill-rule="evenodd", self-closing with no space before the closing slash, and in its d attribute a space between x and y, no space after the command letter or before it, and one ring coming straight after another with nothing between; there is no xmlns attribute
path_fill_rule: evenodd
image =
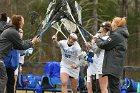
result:
<svg viewBox="0 0 140 93"><path fill-rule="evenodd" d="M62 73L62 72L67 73L69 76L74 77L75 79L78 79L80 68L77 68L77 69L66 68L61 65L60 73Z"/></svg>

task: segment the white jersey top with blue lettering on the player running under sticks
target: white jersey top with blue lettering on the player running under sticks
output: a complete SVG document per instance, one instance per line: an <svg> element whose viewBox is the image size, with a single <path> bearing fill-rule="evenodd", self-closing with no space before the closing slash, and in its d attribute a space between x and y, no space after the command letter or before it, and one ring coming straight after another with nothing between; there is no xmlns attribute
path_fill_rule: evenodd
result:
<svg viewBox="0 0 140 93"><path fill-rule="evenodd" d="M58 42L58 46L62 54L61 65L71 68L71 64L79 64L79 56L82 51L78 42L75 42L72 46L68 46L67 42L67 40L61 40Z"/></svg>

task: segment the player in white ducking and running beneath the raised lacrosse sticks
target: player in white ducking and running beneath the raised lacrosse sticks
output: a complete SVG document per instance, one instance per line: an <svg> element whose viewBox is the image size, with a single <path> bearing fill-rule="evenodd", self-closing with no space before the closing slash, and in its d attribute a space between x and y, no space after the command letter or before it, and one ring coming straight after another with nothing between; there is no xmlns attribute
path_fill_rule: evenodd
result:
<svg viewBox="0 0 140 93"><path fill-rule="evenodd" d="M62 93L67 93L67 84L69 79L73 93L77 93L77 84L80 71L79 66L81 65L81 61L79 61L79 59L84 58L85 56L77 42L78 37L75 33L71 33L67 40L57 41L57 35L54 35L52 39L57 46L60 47L62 54L60 69Z"/></svg>

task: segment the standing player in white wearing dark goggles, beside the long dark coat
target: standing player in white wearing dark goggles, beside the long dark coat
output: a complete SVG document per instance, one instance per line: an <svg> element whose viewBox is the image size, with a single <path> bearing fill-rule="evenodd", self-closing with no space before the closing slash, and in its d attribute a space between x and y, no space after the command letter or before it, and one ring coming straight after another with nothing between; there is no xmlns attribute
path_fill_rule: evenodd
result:
<svg viewBox="0 0 140 93"><path fill-rule="evenodd" d="M110 30L111 30L111 23L104 22L101 24L100 29L99 29L98 33L95 35L95 37L100 36L101 39L106 40L109 37L108 31L110 31ZM91 77L91 75L95 75L95 74L96 74L96 76L99 76L99 78L98 77L96 77L96 78L99 79L101 93L106 93L107 90L105 90L105 86L107 86L107 84L104 82L104 77L102 76L102 66L103 66L105 50L99 49L96 46L94 38L91 41L91 44L89 45L89 43L86 43L86 46L90 46L94 52L94 59L93 59L94 61L93 61L93 63L90 63L90 65L88 67L87 77L89 78L89 77ZM89 79L88 82L91 82L91 79ZM88 84L92 85L90 83L88 83ZM88 87L91 88L90 86L88 86ZM91 90L91 89L89 89L89 90Z"/></svg>

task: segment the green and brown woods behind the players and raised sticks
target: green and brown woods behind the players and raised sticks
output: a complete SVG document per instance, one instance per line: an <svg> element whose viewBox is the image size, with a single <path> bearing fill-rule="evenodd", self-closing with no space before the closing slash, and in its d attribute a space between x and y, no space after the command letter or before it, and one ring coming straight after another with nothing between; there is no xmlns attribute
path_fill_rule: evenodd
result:
<svg viewBox="0 0 140 93"><path fill-rule="evenodd" d="M24 39L29 39L33 37L40 22L43 20L49 1L51 0L0 0L0 13L6 12L9 17L13 14L23 15L25 18ZM83 26L93 34L98 31L101 22L111 21L116 16L127 17L130 36L128 39L126 65L140 66L140 0L77 1L82 7ZM36 11L39 14L33 25L30 23L32 11ZM42 42L34 46L33 54L26 57L25 61L60 61L60 50L55 48L51 40L55 32L54 29L47 31L43 36ZM63 39L61 34L58 37ZM91 38L88 39L90 40ZM81 36L79 36L79 42L84 50L85 46Z"/></svg>

